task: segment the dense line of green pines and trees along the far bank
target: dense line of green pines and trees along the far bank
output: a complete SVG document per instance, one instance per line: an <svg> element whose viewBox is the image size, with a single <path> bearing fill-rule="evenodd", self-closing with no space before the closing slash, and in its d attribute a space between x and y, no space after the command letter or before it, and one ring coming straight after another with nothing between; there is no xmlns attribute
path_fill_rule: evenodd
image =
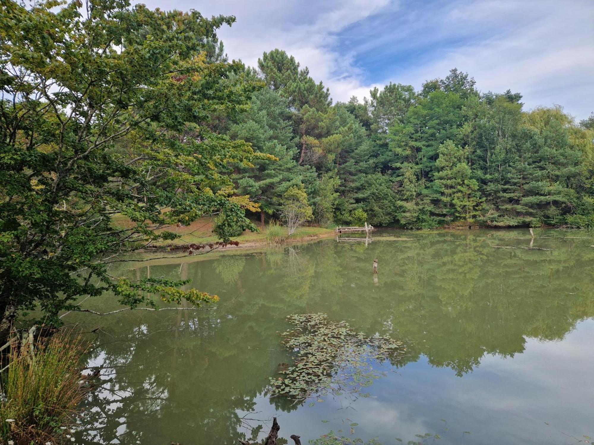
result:
<svg viewBox="0 0 594 445"><path fill-rule="evenodd" d="M525 112L519 93L481 93L455 68L420 91L390 83L332 104L278 49L245 81L261 86L249 110L210 125L274 157L233 166L262 221L280 218L296 186L320 224L594 227L594 117Z"/></svg>

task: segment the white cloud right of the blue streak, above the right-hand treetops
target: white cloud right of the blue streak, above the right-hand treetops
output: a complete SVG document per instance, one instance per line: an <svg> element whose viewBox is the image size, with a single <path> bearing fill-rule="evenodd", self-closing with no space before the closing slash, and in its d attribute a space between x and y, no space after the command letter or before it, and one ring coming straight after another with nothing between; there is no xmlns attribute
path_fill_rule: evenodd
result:
<svg viewBox="0 0 594 445"><path fill-rule="evenodd" d="M519 91L527 109L561 104L580 118L594 111L594 3L492 5L476 2L464 15L454 10L450 17L457 15L467 26L480 26L487 18L502 23L512 13L516 21L524 19L503 35L448 51L443 58L407 72L406 79L432 78L456 66L473 75L482 91ZM510 5L517 8L510 10Z"/></svg>

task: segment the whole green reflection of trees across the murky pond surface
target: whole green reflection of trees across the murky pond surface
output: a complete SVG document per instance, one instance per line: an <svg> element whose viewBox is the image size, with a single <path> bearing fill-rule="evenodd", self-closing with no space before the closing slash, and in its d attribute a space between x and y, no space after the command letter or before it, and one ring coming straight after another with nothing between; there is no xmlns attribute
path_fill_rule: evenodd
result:
<svg viewBox="0 0 594 445"><path fill-rule="evenodd" d="M101 325L91 359L105 367L78 434L83 443L230 444L249 436L238 412L252 411L268 377L289 361L277 332L287 328L290 313L323 312L368 335L404 339L409 354L395 365L425 355L460 376L485 354L511 357L524 350L526 336L561 339L594 316L594 249L577 239L535 241L552 251L491 247L526 241L504 239L510 233L374 236L368 247L331 241L293 247L297 259L277 249L153 266L151 274L191 278L221 303L241 297L214 311L124 312L100 321L72 314L69 322L87 322L86 330ZM122 273L143 276L143 268ZM295 408L279 400L271 400L277 409Z"/></svg>

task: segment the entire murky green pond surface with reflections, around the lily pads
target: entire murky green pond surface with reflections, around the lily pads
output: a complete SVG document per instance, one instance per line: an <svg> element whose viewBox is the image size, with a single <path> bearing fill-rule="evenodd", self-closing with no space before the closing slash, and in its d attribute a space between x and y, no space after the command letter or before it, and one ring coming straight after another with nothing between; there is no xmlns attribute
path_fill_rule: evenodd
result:
<svg viewBox="0 0 594 445"><path fill-rule="evenodd" d="M594 232L378 231L264 252L116 263L112 274L191 278L217 310L71 313L102 367L80 444L302 443L333 430L383 444L574 444L594 437ZM397 238L408 240L398 240ZM378 259L379 273L372 274ZM113 300L84 307L116 309ZM362 395L291 404L269 377L294 313L325 313L406 344ZM353 426L353 432L350 430ZM339 430L343 430L339 433ZM421 439L426 433L440 438ZM289 439L292 444L292 440Z"/></svg>

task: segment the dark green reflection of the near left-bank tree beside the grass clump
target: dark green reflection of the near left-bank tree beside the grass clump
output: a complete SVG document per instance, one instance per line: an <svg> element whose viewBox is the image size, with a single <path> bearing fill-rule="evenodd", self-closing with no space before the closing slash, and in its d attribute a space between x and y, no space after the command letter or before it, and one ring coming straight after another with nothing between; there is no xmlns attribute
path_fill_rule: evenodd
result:
<svg viewBox="0 0 594 445"><path fill-rule="evenodd" d="M102 382L87 403L84 423L89 426L78 433L84 443L192 443L189 437L242 437L236 410L253 410L266 383L258 376L269 371L255 363L250 365L253 371L246 368L238 378L233 359L241 344L214 339L224 323L215 316L190 315L189 323L183 317L181 323L176 323L176 316L158 318L146 317L142 329L131 328L115 341L100 336L90 361L104 367ZM179 431L180 421L185 431ZM147 428L147 423L155 427ZM150 436L141 433L147 429Z"/></svg>

